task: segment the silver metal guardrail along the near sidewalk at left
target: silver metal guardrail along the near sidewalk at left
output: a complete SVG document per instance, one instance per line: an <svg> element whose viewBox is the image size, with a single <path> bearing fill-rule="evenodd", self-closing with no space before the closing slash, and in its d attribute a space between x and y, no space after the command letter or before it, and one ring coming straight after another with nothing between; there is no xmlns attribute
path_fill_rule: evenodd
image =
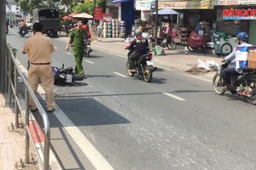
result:
<svg viewBox="0 0 256 170"><path fill-rule="evenodd" d="M32 88L29 86L28 82L26 81L26 77L23 75L22 71L20 70L20 66L15 59L15 55L9 46L6 46L6 58L5 58L5 68L6 68L6 80L5 80L5 87L8 87L8 104L12 105L12 93L15 96L15 127L19 127L19 113L21 113L21 105L18 98L18 74L21 80L25 84L25 103L26 103L26 111L25 116L21 114L23 119L25 120L25 130L26 130L26 141L25 141L25 163L29 163L29 140L32 141L32 147L35 150L36 156L38 157L38 163L41 169L49 170L49 139L50 139L50 131L49 131L49 118L44 111L42 105L39 103L36 95L33 93ZM15 68L15 74L13 74L13 69ZM13 77L14 76L14 77ZM13 82L14 79L14 82ZM39 152L37 150L36 144L32 139L32 133L29 130L29 95L32 97L35 105L37 105L38 111L43 118L44 121L44 161L40 159Z"/></svg>

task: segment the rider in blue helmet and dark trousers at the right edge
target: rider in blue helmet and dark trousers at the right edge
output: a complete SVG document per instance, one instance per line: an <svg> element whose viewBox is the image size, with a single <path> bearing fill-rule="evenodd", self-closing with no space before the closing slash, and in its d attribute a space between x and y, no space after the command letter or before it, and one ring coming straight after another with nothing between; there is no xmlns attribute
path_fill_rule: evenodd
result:
<svg viewBox="0 0 256 170"><path fill-rule="evenodd" d="M247 43L247 33L246 32L240 32L237 34L236 38L238 39L238 46L237 47L249 47L253 46L252 44ZM241 69L236 68L236 48L233 50L231 54L226 56L222 62L229 62L230 61L230 68L226 68L223 71L222 77L224 79L224 83L226 86L224 88L228 88L229 90L232 90L231 85L231 76L236 76L237 74L241 73Z"/></svg>

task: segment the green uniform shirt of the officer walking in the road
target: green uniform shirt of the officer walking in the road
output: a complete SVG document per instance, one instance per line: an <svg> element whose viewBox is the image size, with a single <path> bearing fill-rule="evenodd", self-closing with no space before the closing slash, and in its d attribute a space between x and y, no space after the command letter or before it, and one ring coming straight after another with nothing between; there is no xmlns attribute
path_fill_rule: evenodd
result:
<svg viewBox="0 0 256 170"><path fill-rule="evenodd" d="M69 35L73 46L77 48L84 48L84 36L87 36L87 32L84 31L84 29L81 31L75 29L71 31Z"/></svg>

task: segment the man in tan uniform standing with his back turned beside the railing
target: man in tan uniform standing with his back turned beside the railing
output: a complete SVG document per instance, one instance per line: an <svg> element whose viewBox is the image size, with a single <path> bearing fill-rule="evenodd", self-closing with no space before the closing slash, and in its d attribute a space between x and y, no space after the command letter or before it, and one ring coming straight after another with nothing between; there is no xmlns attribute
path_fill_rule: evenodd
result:
<svg viewBox="0 0 256 170"><path fill-rule="evenodd" d="M36 22L33 24L33 36L26 39L23 54L28 54L30 67L28 70L28 83L34 94L38 91L39 82L42 83L46 93L46 108L48 112L55 111L54 73L51 68L51 53L55 48L49 37L43 35L43 25ZM33 100L29 99L31 111L37 111Z"/></svg>

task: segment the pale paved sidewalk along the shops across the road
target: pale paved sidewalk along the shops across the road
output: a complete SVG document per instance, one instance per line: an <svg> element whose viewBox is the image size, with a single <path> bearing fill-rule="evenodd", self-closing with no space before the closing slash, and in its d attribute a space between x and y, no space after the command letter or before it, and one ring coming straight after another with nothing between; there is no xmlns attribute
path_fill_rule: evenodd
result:
<svg viewBox="0 0 256 170"><path fill-rule="evenodd" d="M68 37L61 36L58 39L63 42L67 42L67 38ZM128 53L128 50L125 49L127 45L128 43L125 43L123 38L98 38L97 42L91 42L92 49L98 49L112 54L119 54L124 57L126 57L126 54ZM186 46L177 46L175 50L165 48L165 51L166 55L154 56L155 65L182 72L186 72L191 69L194 72L189 72L189 74L200 75L207 79L212 79L216 72L207 72L206 70L199 72L198 70L200 69L195 70L195 67L198 65L197 60L201 59L204 62L207 60L214 60L218 64L220 64L222 60L222 58L218 57L216 54L189 52ZM91 54L93 55L93 52Z"/></svg>

